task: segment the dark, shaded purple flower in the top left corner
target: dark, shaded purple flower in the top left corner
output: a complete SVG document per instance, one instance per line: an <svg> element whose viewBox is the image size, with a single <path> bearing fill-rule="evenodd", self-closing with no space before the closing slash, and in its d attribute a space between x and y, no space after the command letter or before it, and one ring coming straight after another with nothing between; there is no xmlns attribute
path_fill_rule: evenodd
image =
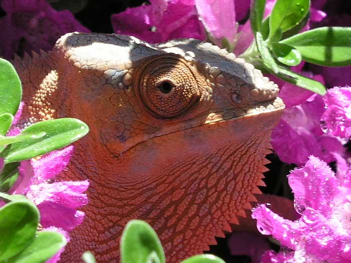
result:
<svg viewBox="0 0 351 263"><path fill-rule="evenodd" d="M7 15L0 19L0 55L8 59L14 53L51 50L68 32L90 32L71 12L57 12L45 0L3 0L1 5Z"/></svg>

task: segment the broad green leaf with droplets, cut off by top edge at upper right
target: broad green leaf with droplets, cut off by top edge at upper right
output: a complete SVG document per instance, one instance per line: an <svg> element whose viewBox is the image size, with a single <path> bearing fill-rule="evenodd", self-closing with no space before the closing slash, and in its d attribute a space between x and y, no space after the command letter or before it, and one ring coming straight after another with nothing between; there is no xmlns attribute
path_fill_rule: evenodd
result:
<svg viewBox="0 0 351 263"><path fill-rule="evenodd" d="M269 38L280 28L288 31L300 23L309 10L309 0L277 0L269 19Z"/></svg>

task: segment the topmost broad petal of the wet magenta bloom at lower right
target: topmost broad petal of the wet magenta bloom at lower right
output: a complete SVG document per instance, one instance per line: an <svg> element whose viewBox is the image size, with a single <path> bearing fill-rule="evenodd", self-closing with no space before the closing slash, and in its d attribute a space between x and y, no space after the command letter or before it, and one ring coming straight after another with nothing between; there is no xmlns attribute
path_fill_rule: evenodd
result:
<svg viewBox="0 0 351 263"><path fill-rule="evenodd" d="M325 162L310 156L305 166L293 170L288 179L295 203L300 209L310 207L325 216L330 215L330 202L336 194L337 179Z"/></svg>

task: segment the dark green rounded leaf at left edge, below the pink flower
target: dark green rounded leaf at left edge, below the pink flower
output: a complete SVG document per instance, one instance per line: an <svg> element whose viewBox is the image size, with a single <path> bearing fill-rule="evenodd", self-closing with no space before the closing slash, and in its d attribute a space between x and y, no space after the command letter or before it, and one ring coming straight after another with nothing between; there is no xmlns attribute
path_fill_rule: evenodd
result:
<svg viewBox="0 0 351 263"><path fill-rule="evenodd" d="M0 261L25 249L35 238L39 210L30 201L10 202L0 208Z"/></svg>

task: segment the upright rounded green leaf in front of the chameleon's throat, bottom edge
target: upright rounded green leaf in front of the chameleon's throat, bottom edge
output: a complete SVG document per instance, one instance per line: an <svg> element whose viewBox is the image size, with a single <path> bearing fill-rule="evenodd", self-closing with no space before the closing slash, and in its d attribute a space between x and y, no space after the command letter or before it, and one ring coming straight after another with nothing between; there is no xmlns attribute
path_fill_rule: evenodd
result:
<svg viewBox="0 0 351 263"><path fill-rule="evenodd" d="M164 252L156 232L141 220L130 220L121 237L121 262L144 263L155 252L160 263L165 262ZM151 255L152 256L152 255Z"/></svg>

